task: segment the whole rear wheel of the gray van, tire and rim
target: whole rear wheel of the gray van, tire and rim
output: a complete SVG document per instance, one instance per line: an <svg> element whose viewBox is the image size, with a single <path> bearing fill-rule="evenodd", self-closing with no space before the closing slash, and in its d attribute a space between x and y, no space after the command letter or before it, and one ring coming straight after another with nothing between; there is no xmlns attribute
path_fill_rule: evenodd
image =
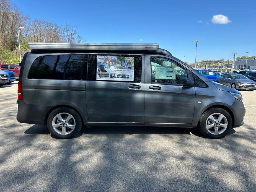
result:
<svg viewBox="0 0 256 192"><path fill-rule="evenodd" d="M70 139L81 130L82 119L75 110L60 107L48 116L47 127L55 138Z"/></svg>

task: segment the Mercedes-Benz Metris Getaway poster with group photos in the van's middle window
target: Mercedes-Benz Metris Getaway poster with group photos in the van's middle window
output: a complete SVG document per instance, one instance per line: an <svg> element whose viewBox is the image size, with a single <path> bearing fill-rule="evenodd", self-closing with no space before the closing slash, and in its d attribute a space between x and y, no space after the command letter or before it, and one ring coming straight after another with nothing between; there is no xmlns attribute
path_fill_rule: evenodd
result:
<svg viewBox="0 0 256 192"><path fill-rule="evenodd" d="M133 81L134 57L97 56L97 80Z"/></svg>

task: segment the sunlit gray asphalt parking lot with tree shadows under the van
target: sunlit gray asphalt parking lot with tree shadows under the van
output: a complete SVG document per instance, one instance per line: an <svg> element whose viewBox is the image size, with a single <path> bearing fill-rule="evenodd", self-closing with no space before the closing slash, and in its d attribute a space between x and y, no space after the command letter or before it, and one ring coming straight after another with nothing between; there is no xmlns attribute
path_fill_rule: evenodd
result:
<svg viewBox="0 0 256 192"><path fill-rule="evenodd" d="M256 191L256 91L223 139L194 129L83 128L74 139L16 120L17 82L0 87L0 191Z"/></svg>

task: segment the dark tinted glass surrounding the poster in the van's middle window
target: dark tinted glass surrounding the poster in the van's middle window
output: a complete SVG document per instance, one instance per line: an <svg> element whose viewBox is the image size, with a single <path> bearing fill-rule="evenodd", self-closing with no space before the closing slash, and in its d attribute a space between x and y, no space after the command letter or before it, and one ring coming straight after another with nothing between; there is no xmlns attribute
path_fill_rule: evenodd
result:
<svg viewBox="0 0 256 192"><path fill-rule="evenodd" d="M102 54L99 54L102 55ZM107 54L108 55L108 54ZM111 55L112 57L134 57L134 77L133 82L141 82L141 69L142 69L142 57L139 55ZM96 81L96 72L97 72L97 55L90 55L88 59L88 81ZM99 66L98 66L99 67ZM103 67L104 68L104 67ZM113 78L115 79L115 78ZM110 81L110 80L107 80ZM113 80L116 81L116 80Z"/></svg>

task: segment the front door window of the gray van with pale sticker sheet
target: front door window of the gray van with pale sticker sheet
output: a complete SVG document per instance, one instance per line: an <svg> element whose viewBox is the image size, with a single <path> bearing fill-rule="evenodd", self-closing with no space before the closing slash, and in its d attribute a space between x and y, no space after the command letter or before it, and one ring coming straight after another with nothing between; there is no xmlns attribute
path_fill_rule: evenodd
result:
<svg viewBox="0 0 256 192"><path fill-rule="evenodd" d="M166 58L151 57L152 83L184 85L187 69Z"/></svg>

